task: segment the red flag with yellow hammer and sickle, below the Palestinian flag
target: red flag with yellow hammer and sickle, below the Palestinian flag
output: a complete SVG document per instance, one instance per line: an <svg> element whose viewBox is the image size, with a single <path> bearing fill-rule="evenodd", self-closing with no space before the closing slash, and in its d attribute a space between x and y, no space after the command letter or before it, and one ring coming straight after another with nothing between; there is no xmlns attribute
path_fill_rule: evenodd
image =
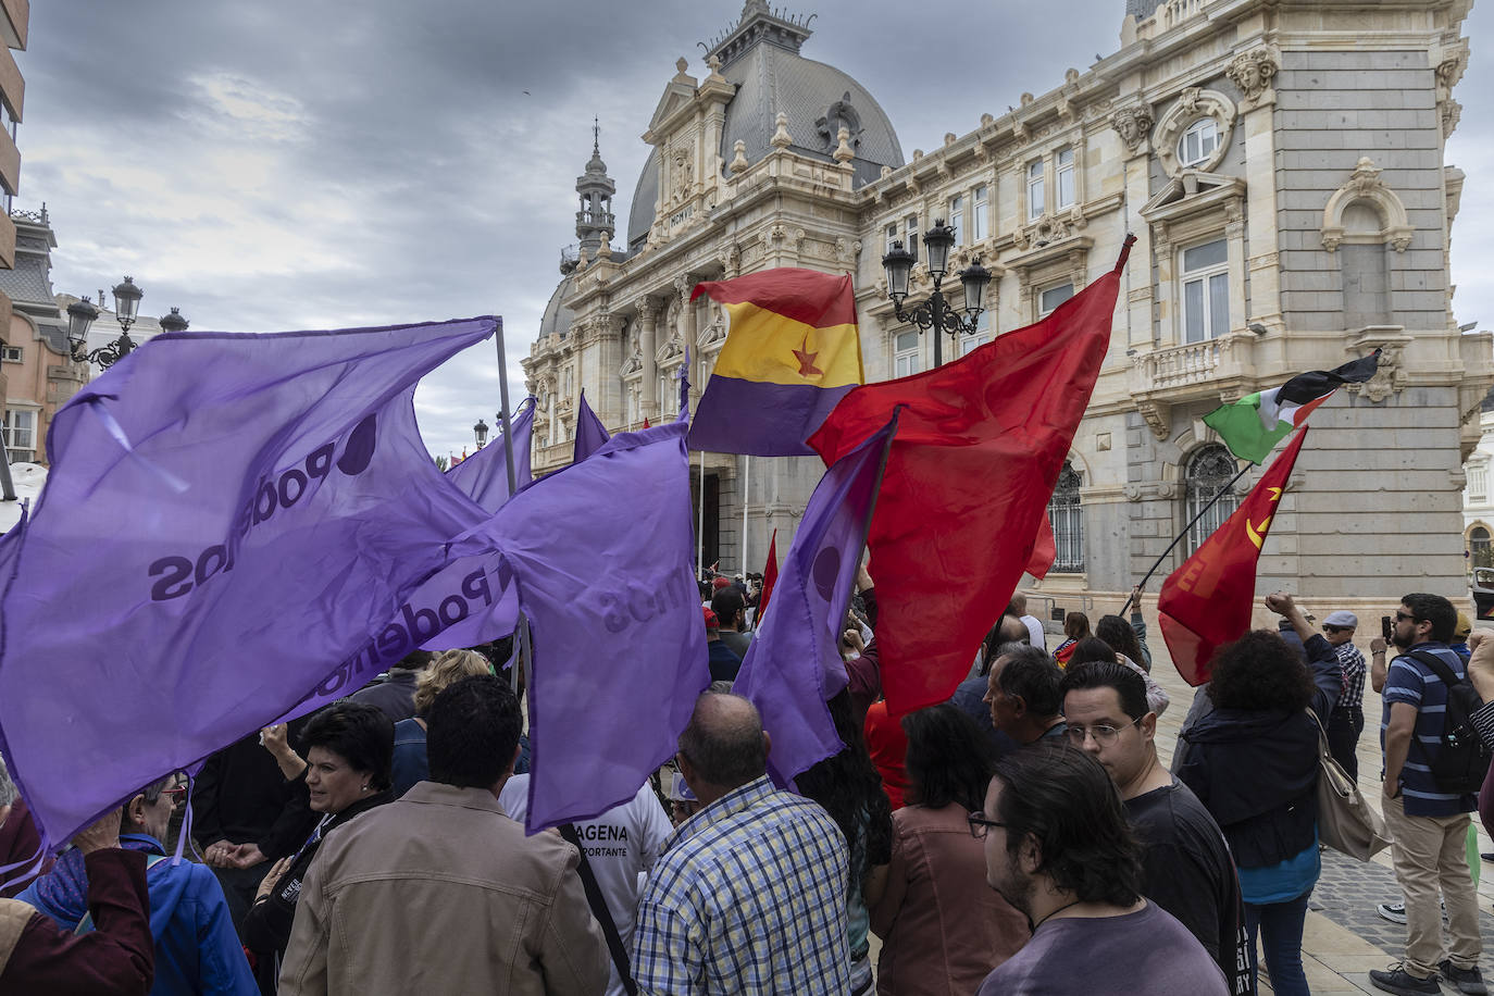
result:
<svg viewBox="0 0 1494 996"><path fill-rule="evenodd" d="M1255 561L1306 438L1304 427L1261 475L1261 482L1234 515L1162 582L1156 599L1162 639L1177 673L1191 685L1209 681L1215 651L1250 629Z"/></svg>

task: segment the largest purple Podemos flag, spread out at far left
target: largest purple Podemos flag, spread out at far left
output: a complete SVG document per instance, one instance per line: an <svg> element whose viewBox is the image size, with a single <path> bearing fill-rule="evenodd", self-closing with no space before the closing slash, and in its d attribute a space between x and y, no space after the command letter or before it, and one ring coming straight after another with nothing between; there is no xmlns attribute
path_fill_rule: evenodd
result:
<svg viewBox="0 0 1494 996"><path fill-rule="evenodd" d="M486 517L415 384L496 327L163 334L58 411L0 596L0 750L45 841L492 597L406 605Z"/></svg>

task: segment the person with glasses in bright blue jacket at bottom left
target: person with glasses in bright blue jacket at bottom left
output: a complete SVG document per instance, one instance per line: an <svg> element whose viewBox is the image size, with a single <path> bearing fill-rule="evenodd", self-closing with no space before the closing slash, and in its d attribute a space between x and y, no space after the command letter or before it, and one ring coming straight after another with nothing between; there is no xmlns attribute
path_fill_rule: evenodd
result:
<svg viewBox="0 0 1494 996"><path fill-rule="evenodd" d="M120 847L145 854L145 884L151 897L151 936L155 941L155 993L221 993L257 996L260 992L233 930L229 902L212 869L166 854L172 812L187 797L187 784L167 775L134 793L120 818ZM51 874L37 878L18 899L63 930L94 929L88 912L88 871L79 850L57 859Z"/></svg>

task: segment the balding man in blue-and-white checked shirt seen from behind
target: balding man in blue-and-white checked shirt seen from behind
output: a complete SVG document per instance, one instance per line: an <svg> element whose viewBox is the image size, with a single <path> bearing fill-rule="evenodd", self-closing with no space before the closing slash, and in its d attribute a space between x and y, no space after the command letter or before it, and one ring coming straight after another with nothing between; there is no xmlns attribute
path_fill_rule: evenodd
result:
<svg viewBox="0 0 1494 996"><path fill-rule="evenodd" d="M702 809L665 841L638 902L639 993L846 993L849 854L817 803L766 776L757 709L707 691L680 735Z"/></svg>

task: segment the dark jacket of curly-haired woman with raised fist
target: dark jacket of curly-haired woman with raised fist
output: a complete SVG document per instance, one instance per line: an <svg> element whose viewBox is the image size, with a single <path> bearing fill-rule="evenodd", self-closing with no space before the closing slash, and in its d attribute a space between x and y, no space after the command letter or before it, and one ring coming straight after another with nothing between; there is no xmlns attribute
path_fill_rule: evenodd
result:
<svg viewBox="0 0 1494 996"><path fill-rule="evenodd" d="M1306 644L1312 708L1333 711L1343 672L1316 633ZM1304 711L1215 709L1179 735L1189 745L1177 776L1224 830L1240 868L1268 868L1312 847L1318 800L1318 727Z"/></svg>

